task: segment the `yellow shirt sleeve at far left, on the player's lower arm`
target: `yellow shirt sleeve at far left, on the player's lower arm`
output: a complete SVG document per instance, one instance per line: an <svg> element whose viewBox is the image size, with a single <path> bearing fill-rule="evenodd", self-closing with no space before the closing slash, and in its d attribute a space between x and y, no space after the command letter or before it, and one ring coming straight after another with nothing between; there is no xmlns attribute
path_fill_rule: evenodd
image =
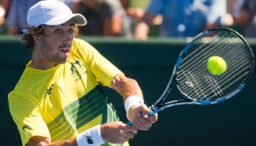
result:
<svg viewBox="0 0 256 146"><path fill-rule="evenodd" d="M22 145L34 136L49 137L50 133L39 112L39 106L17 93L8 95L9 111L20 132Z"/></svg>

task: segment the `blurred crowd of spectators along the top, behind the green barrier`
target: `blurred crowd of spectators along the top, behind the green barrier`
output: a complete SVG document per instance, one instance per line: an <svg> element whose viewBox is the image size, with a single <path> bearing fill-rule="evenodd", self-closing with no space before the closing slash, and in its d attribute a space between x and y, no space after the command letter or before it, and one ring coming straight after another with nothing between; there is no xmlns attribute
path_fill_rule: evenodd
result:
<svg viewBox="0 0 256 146"><path fill-rule="evenodd" d="M146 9L131 6L131 0L60 1L87 18L80 35L146 40L152 26L159 26L160 37L194 37L214 27L231 27L245 37L256 37L255 0L148 0ZM6 34L19 35L36 2L0 0L0 30L6 27Z"/></svg>

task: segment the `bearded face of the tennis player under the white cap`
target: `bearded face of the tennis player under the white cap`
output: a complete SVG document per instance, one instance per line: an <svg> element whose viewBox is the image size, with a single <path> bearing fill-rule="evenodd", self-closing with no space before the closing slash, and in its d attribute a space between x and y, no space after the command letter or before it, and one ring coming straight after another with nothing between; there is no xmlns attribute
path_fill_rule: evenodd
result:
<svg viewBox="0 0 256 146"><path fill-rule="evenodd" d="M41 55L50 64L63 64L70 55L75 24L73 20L58 26L46 26L42 35Z"/></svg>

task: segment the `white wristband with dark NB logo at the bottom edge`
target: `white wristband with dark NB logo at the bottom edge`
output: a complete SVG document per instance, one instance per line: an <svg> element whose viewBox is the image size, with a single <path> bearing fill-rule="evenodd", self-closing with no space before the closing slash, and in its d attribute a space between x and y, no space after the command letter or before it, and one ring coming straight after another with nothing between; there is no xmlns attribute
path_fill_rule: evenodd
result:
<svg viewBox="0 0 256 146"><path fill-rule="evenodd" d="M89 130L83 131L76 137L76 143L78 146L98 146L104 144L105 141L102 139L100 126L94 126Z"/></svg>

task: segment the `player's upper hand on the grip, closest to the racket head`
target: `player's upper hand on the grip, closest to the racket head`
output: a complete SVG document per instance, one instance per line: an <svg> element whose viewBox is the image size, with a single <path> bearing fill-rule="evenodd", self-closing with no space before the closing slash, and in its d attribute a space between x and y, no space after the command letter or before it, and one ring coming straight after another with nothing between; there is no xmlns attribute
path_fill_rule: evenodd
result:
<svg viewBox="0 0 256 146"><path fill-rule="evenodd" d="M143 113L143 116L141 115ZM128 112L128 118L132 122L132 125L139 130L149 130L154 122L158 121L158 114L148 116L150 109L146 104L142 104L139 107L132 106Z"/></svg>

